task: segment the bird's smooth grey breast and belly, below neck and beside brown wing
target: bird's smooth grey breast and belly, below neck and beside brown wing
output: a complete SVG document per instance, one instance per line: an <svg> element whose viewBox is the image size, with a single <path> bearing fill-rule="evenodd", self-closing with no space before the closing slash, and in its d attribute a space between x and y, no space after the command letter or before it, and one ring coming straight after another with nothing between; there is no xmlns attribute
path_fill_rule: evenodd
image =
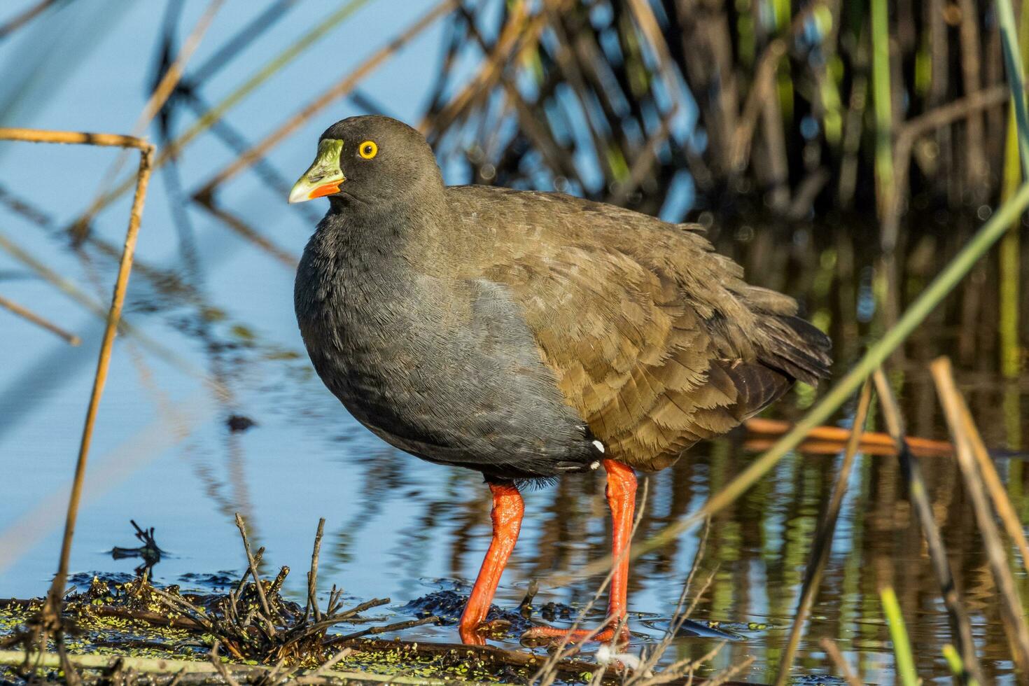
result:
<svg viewBox="0 0 1029 686"><path fill-rule="evenodd" d="M425 274L382 252L326 250L313 239L295 304L322 381L394 445L474 468L542 461L545 475L594 459L584 423L504 286Z"/></svg>

